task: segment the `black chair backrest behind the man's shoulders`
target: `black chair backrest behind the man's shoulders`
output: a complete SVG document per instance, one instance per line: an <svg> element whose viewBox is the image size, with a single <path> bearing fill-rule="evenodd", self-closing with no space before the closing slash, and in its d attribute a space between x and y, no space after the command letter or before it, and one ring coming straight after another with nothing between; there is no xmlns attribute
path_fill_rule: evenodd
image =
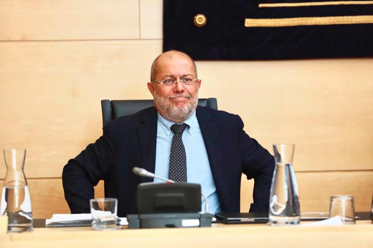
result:
<svg viewBox="0 0 373 248"><path fill-rule="evenodd" d="M198 105L217 110L216 98L198 99ZM102 124L120 116L132 115L147 107L154 106L154 100L101 100Z"/></svg>

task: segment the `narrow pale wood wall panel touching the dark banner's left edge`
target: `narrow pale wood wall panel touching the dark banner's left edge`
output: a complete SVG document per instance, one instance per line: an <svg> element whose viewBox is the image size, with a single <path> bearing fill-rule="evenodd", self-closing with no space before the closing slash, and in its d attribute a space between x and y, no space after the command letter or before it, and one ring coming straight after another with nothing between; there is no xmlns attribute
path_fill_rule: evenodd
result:
<svg viewBox="0 0 373 248"><path fill-rule="evenodd" d="M163 0L140 0L140 38L163 38Z"/></svg>

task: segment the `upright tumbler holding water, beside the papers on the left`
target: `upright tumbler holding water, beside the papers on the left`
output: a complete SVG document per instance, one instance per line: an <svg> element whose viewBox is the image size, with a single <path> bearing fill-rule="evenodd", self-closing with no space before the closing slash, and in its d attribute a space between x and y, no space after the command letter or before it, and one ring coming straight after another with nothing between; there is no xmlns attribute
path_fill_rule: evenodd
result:
<svg viewBox="0 0 373 248"><path fill-rule="evenodd" d="M91 199L92 228L94 230L116 229L117 205L116 198Z"/></svg>

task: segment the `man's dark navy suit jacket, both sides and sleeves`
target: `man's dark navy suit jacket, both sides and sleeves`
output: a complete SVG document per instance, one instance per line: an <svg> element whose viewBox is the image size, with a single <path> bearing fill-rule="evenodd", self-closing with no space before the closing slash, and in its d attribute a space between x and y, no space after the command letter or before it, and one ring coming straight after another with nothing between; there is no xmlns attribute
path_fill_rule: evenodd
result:
<svg viewBox="0 0 373 248"><path fill-rule="evenodd" d="M223 212L240 212L241 174L254 178L250 212L269 210L273 156L243 130L238 115L198 106L196 110L217 196ZM93 186L109 180L106 197L118 199L118 216L136 213L136 188L152 178L132 173L141 167L154 173L157 110L150 107L107 123L103 135L63 168L65 199L71 213L90 213ZM251 194L251 192L245 192Z"/></svg>

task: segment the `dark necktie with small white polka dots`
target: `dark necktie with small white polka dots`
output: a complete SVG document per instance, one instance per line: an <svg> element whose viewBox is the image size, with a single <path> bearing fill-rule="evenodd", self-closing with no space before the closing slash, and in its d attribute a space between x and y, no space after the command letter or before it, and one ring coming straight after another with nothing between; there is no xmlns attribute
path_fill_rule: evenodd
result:
<svg viewBox="0 0 373 248"><path fill-rule="evenodd" d="M182 141L182 136L185 128L188 125L173 124L171 131L173 132L171 153L170 153L170 168L168 178L175 182L186 183L186 154L185 147Z"/></svg>

